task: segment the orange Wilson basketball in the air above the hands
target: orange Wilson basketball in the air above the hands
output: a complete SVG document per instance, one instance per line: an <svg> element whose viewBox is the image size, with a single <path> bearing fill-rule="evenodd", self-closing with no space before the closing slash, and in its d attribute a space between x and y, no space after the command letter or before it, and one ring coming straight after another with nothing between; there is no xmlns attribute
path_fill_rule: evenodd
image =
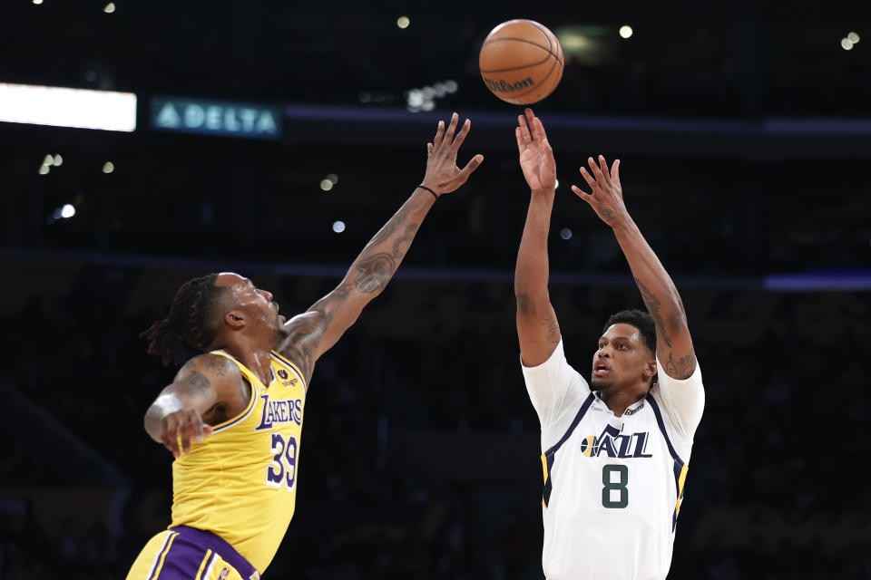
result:
<svg viewBox="0 0 871 580"><path fill-rule="evenodd" d="M504 102L528 105L553 92L563 78L563 47L532 20L509 20L484 39L478 68L484 84Z"/></svg>

